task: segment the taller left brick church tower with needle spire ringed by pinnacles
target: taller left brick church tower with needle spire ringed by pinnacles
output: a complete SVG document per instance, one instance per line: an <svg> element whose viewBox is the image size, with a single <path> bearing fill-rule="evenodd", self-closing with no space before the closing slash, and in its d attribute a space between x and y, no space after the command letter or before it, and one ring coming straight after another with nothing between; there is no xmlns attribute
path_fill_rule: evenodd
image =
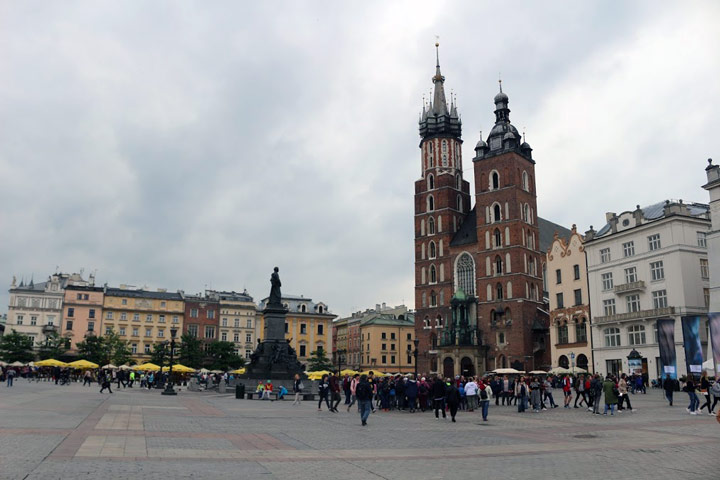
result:
<svg viewBox="0 0 720 480"><path fill-rule="evenodd" d="M463 179L462 122L445 96L439 43L433 95L420 114L420 179L415 182L415 321L420 371L438 370L438 341L450 320L453 296L450 241L470 210Z"/></svg>

